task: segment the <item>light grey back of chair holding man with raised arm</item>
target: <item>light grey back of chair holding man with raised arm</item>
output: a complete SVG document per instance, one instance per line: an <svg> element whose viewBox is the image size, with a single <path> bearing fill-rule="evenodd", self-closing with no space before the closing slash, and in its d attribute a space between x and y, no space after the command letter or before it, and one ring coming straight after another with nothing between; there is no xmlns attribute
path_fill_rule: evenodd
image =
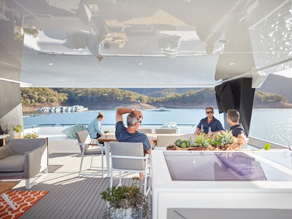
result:
<svg viewBox="0 0 292 219"><path fill-rule="evenodd" d="M143 159L131 159L129 157L144 157L142 143L110 142L110 153L118 157L111 157L112 168L144 170ZM128 157L128 158L127 158Z"/></svg>

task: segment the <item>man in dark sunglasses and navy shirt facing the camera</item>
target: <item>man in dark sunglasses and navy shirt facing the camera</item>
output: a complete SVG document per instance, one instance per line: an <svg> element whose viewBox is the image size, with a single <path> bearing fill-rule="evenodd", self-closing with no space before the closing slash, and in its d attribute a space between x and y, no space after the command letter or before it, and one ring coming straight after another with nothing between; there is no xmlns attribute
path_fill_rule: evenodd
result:
<svg viewBox="0 0 292 219"><path fill-rule="evenodd" d="M212 135L215 134L216 132L222 133L224 131L224 129L222 127L221 122L213 116L214 110L212 107L206 108L206 115L207 115L207 117L201 119L194 134L198 135L200 133L201 126L203 126L204 133L206 133L206 134L209 131L209 127L211 127L211 131L212 131L211 134Z"/></svg>

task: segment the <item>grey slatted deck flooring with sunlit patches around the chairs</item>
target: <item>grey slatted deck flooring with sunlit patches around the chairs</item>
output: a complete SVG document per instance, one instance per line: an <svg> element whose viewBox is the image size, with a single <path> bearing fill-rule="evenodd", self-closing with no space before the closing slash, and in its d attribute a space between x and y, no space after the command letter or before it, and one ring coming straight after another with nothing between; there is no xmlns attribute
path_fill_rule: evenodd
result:
<svg viewBox="0 0 292 219"><path fill-rule="evenodd" d="M61 167L55 172L49 172L30 189L31 191L49 191L49 193L24 212L19 219L102 219L106 202L101 199L100 193L110 186L110 178L107 178L106 168L103 178L78 177L80 160L81 154L76 153L49 154L49 165L61 165ZM84 158L82 170L89 169L90 161L91 156ZM93 166L101 166L101 157L94 157L93 163ZM104 165L106 166L105 157ZM89 170L86 171L89 172ZM122 174L122 184L131 185L131 177L138 175L138 173ZM117 172L114 185L118 181ZM12 190L25 190L24 180L9 182L16 183ZM143 191L143 182L138 181L137 185ZM151 203L150 193L148 201Z"/></svg>

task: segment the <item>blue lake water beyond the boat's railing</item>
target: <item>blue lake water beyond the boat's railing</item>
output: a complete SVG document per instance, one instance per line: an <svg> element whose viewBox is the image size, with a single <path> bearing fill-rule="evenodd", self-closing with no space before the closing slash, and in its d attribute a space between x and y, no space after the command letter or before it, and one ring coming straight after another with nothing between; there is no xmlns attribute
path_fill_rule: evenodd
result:
<svg viewBox="0 0 292 219"><path fill-rule="evenodd" d="M143 112L143 124L165 124L176 122L178 125L196 125L205 117L205 109L170 109L171 111L141 110ZM224 126L223 113L219 114L214 109L214 116ZM116 110L102 110L105 117L102 124L115 124ZM98 114L98 111L44 114L31 112L23 114L23 125L32 126L39 124L89 124ZM36 115L36 116L27 116ZM126 121L126 117L124 117ZM292 109L254 109L249 135L292 146Z"/></svg>

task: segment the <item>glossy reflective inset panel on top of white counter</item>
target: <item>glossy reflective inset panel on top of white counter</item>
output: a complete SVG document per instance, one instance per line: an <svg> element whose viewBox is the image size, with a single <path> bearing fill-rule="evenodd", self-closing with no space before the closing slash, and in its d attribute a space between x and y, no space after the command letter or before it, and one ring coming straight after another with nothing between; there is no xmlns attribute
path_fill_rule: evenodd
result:
<svg viewBox="0 0 292 219"><path fill-rule="evenodd" d="M262 151L267 152L267 151ZM258 153L268 156L269 153ZM271 164L252 152L164 151L164 158L173 181L292 181L289 171ZM283 156L280 155L279 156ZM287 154L285 155L287 156ZM279 160L282 160L278 157ZM274 157L277 160L277 157ZM290 157L286 163L291 165ZM288 166L287 166L288 167ZM290 166L291 168L291 166Z"/></svg>

